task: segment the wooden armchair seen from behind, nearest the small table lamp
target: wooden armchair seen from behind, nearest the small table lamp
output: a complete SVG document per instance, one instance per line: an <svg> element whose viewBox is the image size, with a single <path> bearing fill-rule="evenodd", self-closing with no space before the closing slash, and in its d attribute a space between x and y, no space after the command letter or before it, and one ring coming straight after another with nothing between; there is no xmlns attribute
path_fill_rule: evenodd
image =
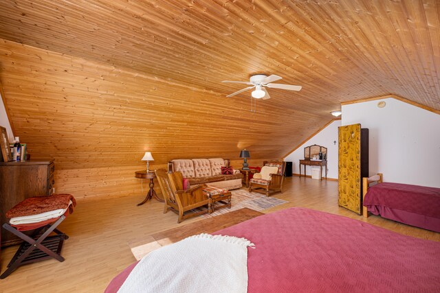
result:
<svg viewBox="0 0 440 293"><path fill-rule="evenodd" d="M168 173L166 169L155 171L160 189L164 195L164 213L168 210L174 211L179 215L177 223L182 220L207 213L208 209L197 213L186 213L190 209L208 205L208 196L203 194L205 185L198 185L190 189L183 189L183 177L180 172Z"/></svg>

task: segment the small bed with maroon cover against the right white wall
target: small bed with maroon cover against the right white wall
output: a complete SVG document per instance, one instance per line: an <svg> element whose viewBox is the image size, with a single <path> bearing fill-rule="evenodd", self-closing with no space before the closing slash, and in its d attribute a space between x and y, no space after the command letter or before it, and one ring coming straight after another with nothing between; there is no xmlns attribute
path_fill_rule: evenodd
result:
<svg viewBox="0 0 440 293"><path fill-rule="evenodd" d="M369 187L364 206L374 215L440 232L440 188L378 183Z"/></svg>

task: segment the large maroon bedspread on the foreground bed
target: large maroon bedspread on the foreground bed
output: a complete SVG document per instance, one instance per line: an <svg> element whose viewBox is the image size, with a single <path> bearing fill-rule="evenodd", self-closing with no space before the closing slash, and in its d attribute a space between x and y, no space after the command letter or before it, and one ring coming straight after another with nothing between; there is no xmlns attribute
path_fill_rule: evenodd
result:
<svg viewBox="0 0 440 293"><path fill-rule="evenodd" d="M439 292L440 288L440 242L339 215L292 208L214 234L245 237L255 244L248 249L248 292ZM115 277L106 292L117 292L135 265Z"/></svg>

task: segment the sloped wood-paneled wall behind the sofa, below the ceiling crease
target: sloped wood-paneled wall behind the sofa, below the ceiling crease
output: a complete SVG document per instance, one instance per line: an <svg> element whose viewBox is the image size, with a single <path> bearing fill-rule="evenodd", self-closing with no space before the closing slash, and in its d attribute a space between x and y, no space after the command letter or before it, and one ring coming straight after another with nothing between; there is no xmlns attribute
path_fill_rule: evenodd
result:
<svg viewBox="0 0 440 293"><path fill-rule="evenodd" d="M152 169L207 157L240 167L241 148L261 165L301 135L274 106L250 113L248 100L5 40L0 55L16 135L32 158L55 159L56 190L77 197L140 194L146 150Z"/></svg>

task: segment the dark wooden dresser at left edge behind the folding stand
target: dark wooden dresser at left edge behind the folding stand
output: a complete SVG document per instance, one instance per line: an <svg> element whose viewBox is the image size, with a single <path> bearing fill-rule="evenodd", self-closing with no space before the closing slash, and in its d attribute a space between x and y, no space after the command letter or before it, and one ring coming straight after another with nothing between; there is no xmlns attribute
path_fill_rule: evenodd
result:
<svg viewBox="0 0 440 293"><path fill-rule="evenodd" d="M15 204L32 196L52 194L55 165L53 159L0 163L0 224L8 219L5 213ZM1 246L21 242L19 237L1 228Z"/></svg>

